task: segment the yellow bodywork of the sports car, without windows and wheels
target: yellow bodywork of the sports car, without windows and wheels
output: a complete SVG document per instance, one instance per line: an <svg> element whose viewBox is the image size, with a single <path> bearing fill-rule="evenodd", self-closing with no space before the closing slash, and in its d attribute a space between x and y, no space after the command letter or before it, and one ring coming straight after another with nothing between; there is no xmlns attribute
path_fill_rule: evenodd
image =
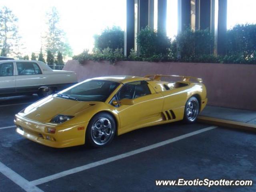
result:
<svg viewBox="0 0 256 192"><path fill-rule="evenodd" d="M15 116L16 132L34 142L55 148L70 147L86 143L88 123L99 112L112 114L116 121L117 135L158 124L182 120L184 106L191 96L200 102L200 111L207 103L206 88L202 82L194 83L184 78L178 82L164 82L136 76L109 76L93 78L120 83L105 102L82 102L58 98L55 95L43 98ZM146 81L151 94L133 99L132 105L119 107L111 104L112 98L126 83ZM170 90L165 90L164 86ZM176 86L176 87L175 87ZM62 124L52 123L51 119L64 114L74 116ZM48 133L47 128L56 129Z"/></svg>

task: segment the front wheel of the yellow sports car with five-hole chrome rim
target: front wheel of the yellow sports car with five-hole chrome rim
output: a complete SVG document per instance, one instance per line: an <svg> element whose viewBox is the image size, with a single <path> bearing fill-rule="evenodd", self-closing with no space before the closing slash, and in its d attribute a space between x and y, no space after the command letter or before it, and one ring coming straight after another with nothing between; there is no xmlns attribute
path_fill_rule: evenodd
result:
<svg viewBox="0 0 256 192"><path fill-rule="evenodd" d="M105 112L96 114L86 129L86 144L93 147L103 147L109 144L116 133L114 118Z"/></svg>

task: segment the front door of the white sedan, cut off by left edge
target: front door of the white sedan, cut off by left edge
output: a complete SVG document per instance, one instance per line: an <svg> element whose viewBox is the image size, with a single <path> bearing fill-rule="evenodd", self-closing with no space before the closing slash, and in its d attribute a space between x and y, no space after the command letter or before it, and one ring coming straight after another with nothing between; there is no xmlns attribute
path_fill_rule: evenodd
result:
<svg viewBox="0 0 256 192"><path fill-rule="evenodd" d="M0 96L15 93L14 63L0 64Z"/></svg>

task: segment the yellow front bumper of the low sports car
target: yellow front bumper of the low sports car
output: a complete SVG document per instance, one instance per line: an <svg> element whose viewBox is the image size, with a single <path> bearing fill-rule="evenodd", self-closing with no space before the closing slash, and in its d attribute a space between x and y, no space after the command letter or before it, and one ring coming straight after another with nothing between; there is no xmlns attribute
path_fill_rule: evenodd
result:
<svg viewBox="0 0 256 192"><path fill-rule="evenodd" d="M62 126L35 122L16 115L14 124L17 126L16 132L29 140L54 148L64 148L84 144L88 122ZM55 128L56 132L47 133L47 128Z"/></svg>

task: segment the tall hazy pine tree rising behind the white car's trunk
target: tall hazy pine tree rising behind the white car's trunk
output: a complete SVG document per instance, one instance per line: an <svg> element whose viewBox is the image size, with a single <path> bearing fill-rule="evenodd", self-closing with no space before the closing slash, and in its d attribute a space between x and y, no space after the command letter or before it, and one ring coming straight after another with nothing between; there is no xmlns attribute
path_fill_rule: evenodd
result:
<svg viewBox="0 0 256 192"><path fill-rule="evenodd" d="M46 14L48 31L44 36L46 50L50 50L54 56L60 51L64 56L72 56L72 49L66 40L66 34L59 28L60 16L56 7Z"/></svg>

